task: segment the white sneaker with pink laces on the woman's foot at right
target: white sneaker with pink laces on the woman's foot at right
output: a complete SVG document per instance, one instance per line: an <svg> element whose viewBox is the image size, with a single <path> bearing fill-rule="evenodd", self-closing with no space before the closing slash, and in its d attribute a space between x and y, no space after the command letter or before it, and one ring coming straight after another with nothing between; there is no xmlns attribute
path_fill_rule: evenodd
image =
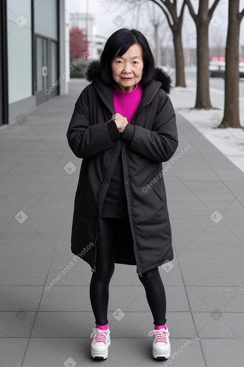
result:
<svg viewBox="0 0 244 367"><path fill-rule="evenodd" d="M166 326L167 327L167 326ZM162 328L160 330L152 330L148 334L153 337L153 357L156 359L167 359L170 356L170 340L169 330Z"/></svg>

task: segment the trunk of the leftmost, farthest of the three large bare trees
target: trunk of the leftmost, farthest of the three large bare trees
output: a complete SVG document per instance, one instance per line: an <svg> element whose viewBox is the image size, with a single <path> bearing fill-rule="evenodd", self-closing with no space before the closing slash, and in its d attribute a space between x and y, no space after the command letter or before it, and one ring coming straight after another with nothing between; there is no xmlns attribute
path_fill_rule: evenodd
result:
<svg viewBox="0 0 244 367"><path fill-rule="evenodd" d="M173 41L175 49L175 65L176 65L176 83L175 86L186 87L185 79L185 61L182 46L182 23L178 24L177 29L173 30Z"/></svg>

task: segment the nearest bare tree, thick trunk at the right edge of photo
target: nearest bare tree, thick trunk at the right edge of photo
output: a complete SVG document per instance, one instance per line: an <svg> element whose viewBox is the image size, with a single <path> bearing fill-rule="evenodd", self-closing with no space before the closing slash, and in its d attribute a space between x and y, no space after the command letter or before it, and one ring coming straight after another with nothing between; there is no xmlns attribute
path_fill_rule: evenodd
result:
<svg viewBox="0 0 244 367"><path fill-rule="evenodd" d="M225 109L223 127L241 127L239 116L239 37L244 9L239 12L240 0L229 0L229 24L226 42Z"/></svg>

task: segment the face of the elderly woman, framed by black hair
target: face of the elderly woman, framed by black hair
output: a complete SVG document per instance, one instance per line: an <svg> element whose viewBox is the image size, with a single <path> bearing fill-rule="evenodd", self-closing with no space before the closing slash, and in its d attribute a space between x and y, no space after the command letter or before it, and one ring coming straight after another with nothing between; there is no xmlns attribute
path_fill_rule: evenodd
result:
<svg viewBox="0 0 244 367"><path fill-rule="evenodd" d="M116 54L118 51L116 52ZM140 44L133 44L122 56L111 61L114 80L124 92L132 91L141 78L143 71L143 50Z"/></svg>

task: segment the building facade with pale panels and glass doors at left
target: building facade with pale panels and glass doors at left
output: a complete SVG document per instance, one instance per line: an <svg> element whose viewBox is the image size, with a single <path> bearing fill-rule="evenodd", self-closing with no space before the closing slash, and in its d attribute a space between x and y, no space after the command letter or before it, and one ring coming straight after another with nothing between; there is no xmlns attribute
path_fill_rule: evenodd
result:
<svg viewBox="0 0 244 367"><path fill-rule="evenodd" d="M65 0L1 0L0 124L68 92L66 27Z"/></svg>

